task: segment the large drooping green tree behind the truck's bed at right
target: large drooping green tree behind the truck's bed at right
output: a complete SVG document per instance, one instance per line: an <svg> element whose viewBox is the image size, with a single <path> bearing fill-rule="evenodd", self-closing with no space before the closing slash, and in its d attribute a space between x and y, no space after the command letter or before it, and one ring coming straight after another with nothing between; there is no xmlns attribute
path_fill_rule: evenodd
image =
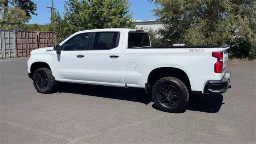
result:
<svg viewBox="0 0 256 144"><path fill-rule="evenodd" d="M151 0L150 0L151 1ZM256 0L156 0L165 45L229 44L230 56L256 58Z"/></svg>

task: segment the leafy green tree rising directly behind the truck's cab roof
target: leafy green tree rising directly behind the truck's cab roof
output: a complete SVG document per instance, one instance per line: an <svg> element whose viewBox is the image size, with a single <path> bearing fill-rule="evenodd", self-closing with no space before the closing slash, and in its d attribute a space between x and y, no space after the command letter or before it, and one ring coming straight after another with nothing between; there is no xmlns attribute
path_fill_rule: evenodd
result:
<svg viewBox="0 0 256 144"><path fill-rule="evenodd" d="M134 28L128 0L68 0L64 21L72 32L96 28Z"/></svg>

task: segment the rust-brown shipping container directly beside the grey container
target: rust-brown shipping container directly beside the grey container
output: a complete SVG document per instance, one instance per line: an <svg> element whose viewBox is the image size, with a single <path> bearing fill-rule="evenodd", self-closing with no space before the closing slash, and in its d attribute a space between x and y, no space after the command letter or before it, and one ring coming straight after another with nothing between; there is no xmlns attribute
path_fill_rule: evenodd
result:
<svg viewBox="0 0 256 144"><path fill-rule="evenodd" d="M16 32L17 57L29 56L29 52L38 48L38 36L34 31Z"/></svg>

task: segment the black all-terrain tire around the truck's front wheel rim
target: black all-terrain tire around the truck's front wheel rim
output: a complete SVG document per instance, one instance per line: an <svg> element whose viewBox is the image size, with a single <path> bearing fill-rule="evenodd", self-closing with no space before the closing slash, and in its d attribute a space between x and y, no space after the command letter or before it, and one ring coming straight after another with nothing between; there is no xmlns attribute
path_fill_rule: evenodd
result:
<svg viewBox="0 0 256 144"><path fill-rule="evenodd" d="M41 74L47 78L47 85L45 88L40 88L38 85L37 85L37 78L36 76L38 76L38 74ZM49 93L52 93L54 91L54 89L56 88L56 81L55 81L55 78L54 76L52 76L52 71L49 70L48 68L38 68L34 74L33 74L33 84L34 84L34 87L36 88L36 91L37 92L40 92L40 93L44 93L44 94L49 94Z"/></svg>

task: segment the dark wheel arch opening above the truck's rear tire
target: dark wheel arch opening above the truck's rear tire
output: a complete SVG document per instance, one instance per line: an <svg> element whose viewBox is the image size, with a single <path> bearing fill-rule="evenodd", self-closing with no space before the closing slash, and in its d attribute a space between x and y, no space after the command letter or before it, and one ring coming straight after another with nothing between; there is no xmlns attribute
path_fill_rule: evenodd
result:
<svg viewBox="0 0 256 144"><path fill-rule="evenodd" d="M188 90L191 91L191 81L188 74L184 70L174 67L158 67L153 69L148 74L146 89L154 86L158 80L167 76L180 79L182 82L184 82L184 84L186 84Z"/></svg>

